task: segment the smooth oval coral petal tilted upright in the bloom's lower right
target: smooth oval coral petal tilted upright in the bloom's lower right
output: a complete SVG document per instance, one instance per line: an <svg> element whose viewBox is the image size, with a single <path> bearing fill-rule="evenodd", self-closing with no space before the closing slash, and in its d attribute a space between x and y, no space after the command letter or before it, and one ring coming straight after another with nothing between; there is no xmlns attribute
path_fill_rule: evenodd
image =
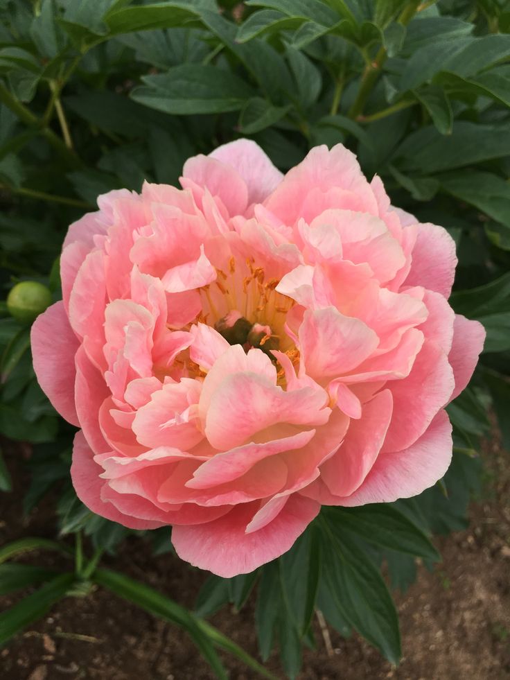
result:
<svg viewBox="0 0 510 680"><path fill-rule="evenodd" d="M350 496L376 462L392 419L389 390L379 392L363 405L362 417L351 421L338 451L321 466L321 477L335 496Z"/></svg>

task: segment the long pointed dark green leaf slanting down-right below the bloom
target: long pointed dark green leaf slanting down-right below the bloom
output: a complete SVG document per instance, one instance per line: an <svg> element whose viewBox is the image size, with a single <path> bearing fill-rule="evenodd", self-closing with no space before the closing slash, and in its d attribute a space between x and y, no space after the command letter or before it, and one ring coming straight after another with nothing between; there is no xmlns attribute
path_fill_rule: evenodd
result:
<svg viewBox="0 0 510 680"><path fill-rule="evenodd" d="M401 658L398 614L383 577L363 550L327 515L322 519L324 576L336 607L391 663Z"/></svg>

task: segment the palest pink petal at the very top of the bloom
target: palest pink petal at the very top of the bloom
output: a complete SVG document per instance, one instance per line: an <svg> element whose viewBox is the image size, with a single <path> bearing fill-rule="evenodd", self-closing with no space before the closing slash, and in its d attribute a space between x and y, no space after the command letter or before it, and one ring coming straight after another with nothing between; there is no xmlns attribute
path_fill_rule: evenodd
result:
<svg viewBox="0 0 510 680"><path fill-rule="evenodd" d="M209 156L231 166L243 177L248 204L263 202L283 179L282 173L251 139L236 139L218 146Z"/></svg>

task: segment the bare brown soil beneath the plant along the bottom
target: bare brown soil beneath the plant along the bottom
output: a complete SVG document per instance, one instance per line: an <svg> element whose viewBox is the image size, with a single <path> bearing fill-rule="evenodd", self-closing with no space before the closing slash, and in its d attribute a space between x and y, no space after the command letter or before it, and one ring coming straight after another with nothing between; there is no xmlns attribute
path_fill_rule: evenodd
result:
<svg viewBox="0 0 510 680"><path fill-rule="evenodd" d="M6 457L13 478L21 480L19 461L12 452ZM470 528L436 539L442 564L432 573L420 568L409 591L396 595L404 653L398 668L359 636L345 640L333 630L324 636L317 622L317 649L306 650L299 680L510 679L510 466L508 453L497 442L486 446L484 458L490 483L484 500L471 508ZM28 535L53 538L51 498L39 504L28 521L19 521L22 485L19 481L12 494L0 494L0 543ZM64 566L61 558L47 554L30 559ZM204 579L204 573L174 555L150 557L137 537L125 541L118 555L106 557L103 565L143 580L189 607ZM0 608L13 602L13 597L0 598ZM240 613L223 609L211 622L257 656L253 602ZM224 661L232 679L256 678L231 656ZM267 668L284 677L276 655ZM186 634L102 589L62 600L0 650L0 677L213 680Z"/></svg>

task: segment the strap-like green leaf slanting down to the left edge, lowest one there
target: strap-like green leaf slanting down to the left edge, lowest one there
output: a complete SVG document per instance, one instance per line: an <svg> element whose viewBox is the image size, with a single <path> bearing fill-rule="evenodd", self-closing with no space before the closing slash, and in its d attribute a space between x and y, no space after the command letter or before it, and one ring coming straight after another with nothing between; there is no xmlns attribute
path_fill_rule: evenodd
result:
<svg viewBox="0 0 510 680"><path fill-rule="evenodd" d="M21 632L30 623L42 618L52 604L61 600L74 582L74 574L55 577L41 589L0 613L0 645Z"/></svg>

